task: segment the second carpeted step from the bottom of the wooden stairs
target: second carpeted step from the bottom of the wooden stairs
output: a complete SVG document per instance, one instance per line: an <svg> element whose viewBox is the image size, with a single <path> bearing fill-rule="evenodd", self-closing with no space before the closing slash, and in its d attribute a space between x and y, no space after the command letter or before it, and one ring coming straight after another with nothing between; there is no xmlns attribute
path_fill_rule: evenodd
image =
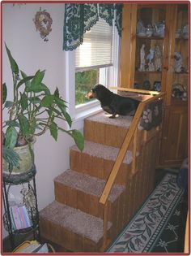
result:
<svg viewBox="0 0 191 256"><path fill-rule="evenodd" d="M103 218L103 205L99 200L105 183L105 180L67 170L54 179L55 198L57 202ZM119 197L124 191L125 186L113 185L108 197L108 204L111 206L108 219L111 219L113 212L117 210Z"/></svg>

